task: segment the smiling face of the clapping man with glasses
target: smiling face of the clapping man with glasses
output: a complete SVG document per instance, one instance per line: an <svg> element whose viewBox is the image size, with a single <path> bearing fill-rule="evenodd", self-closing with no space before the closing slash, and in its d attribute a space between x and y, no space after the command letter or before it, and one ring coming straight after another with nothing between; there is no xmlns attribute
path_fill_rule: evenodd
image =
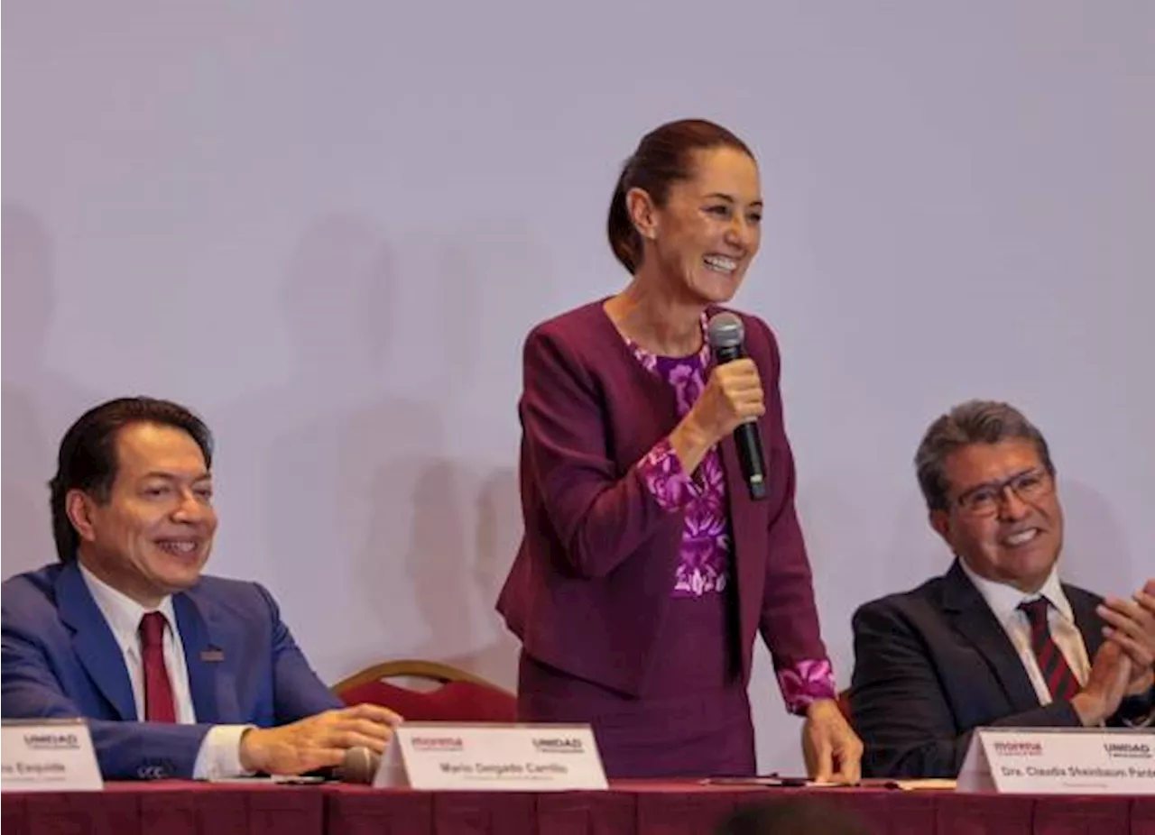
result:
<svg viewBox="0 0 1155 835"><path fill-rule="evenodd" d="M969 443L944 462L947 508L931 524L977 575L1037 591L1063 549L1063 507L1035 443Z"/></svg>

